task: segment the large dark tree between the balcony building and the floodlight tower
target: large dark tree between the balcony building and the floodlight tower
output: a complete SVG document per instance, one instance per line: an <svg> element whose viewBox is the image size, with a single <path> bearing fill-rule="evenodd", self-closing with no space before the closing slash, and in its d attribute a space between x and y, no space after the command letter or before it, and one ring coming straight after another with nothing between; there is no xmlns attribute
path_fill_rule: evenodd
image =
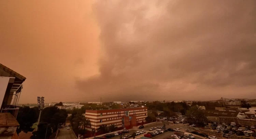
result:
<svg viewBox="0 0 256 139"><path fill-rule="evenodd" d="M30 108L29 106L19 107L19 112L17 115L17 121L19 122L19 127L16 132L19 134L21 131L32 132L33 128L31 126L37 122L39 116L38 107Z"/></svg>

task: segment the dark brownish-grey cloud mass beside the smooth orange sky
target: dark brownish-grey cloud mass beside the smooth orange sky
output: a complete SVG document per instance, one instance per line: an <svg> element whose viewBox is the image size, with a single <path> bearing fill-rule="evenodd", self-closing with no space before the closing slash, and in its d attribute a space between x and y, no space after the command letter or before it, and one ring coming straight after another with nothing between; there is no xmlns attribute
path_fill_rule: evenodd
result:
<svg viewBox="0 0 256 139"><path fill-rule="evenodd" d="M91 99L205 100L256 88L254 0L97 1L93 12L104 56L98 75L76 82Z"/></svg>

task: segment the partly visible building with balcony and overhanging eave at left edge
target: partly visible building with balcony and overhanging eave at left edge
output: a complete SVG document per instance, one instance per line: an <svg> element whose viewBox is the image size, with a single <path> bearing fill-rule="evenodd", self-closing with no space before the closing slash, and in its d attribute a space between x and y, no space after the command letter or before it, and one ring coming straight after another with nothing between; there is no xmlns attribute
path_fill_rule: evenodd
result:
<svg viewBox="0 0 256 139"><path fill-rule="evenodd" d="M17 104L25 80L24 76L0 64L0 139L18 139Z"/></svg>

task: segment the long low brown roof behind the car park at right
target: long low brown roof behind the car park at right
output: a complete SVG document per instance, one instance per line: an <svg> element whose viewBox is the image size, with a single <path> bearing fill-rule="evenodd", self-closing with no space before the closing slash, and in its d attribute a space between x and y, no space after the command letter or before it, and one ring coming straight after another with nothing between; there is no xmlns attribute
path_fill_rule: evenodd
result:
<svg viewBox="0 0 256 139"><path fill-rule="evenodd" d="M212 116L212 117L237 117L239 112L233 111L204 111L205 116Z"/></svg>

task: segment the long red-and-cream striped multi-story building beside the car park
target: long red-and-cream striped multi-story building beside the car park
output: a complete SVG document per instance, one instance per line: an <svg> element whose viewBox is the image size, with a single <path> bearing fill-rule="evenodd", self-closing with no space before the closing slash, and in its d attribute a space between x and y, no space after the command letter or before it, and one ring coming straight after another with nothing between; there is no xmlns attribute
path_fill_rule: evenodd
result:
<svg viewBox="0 0 256 139"><path fill-rule="evenodd" d="M90 120L91 127L87 129L97 129L101 125L110 126L114 124L117 127L130 129L137 126L138 123L145 122L147 117L147 107L122 108L112 110L86 110L85 117Z"/></svg>

